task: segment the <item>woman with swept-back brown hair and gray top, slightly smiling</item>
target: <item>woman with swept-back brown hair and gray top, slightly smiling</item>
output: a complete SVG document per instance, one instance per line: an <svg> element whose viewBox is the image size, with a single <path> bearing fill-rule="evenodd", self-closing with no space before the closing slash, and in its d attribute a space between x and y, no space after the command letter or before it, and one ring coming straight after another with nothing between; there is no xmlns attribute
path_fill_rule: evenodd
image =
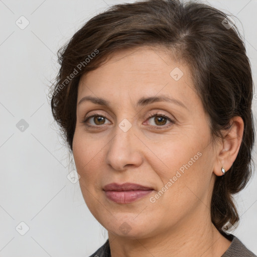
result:
<svg viewBox="0 0 257 257"><path fill-rule="evenodd" d="M234 235L251 175L252 76L226 15L198 3L111 7L59 52L51 107L84 200L91 256L256 256Z"/></svg>

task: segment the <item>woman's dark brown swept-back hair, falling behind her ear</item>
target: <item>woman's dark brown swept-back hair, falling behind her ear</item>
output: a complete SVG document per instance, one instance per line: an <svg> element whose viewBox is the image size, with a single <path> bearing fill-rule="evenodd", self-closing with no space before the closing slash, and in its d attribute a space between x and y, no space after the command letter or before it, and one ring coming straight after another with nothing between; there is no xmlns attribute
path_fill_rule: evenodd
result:
<svg viewBox="0 0 257 257"><path fill-rule="evenodd" d="M90 19L58 51L61 65L50 90L51 108L72 153L80 77L102 65L118 50L141 46L174 50L189 67L193 83L210 119L214 138L240 116L242 142L229 172L217 176L211 198L211 221L217 229L239 221L232 195L252 175L254 128L253 82L243 40L228 16L205 4L148 0L110 7Z"/></svg>

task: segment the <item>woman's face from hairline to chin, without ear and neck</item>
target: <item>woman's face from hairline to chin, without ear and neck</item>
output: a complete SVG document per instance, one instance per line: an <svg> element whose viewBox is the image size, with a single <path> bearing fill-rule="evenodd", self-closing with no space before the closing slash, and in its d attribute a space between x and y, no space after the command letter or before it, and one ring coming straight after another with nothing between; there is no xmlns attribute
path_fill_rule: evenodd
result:
<svg viewBox="0 0 257 257"><path fill-rule="evenodd" d="M217 158L183 62L148 47L116 52L82 76L77 103L79 183L109 232L146 238L209 220Z"/></svg>

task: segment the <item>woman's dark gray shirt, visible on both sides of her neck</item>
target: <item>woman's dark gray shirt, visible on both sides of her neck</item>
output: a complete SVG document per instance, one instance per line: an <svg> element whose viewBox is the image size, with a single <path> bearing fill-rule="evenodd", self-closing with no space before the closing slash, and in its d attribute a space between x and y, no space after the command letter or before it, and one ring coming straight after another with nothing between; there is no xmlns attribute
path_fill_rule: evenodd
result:
<svg viewBox="0 0 257 257"><path fill-rule="evenodd" d="M257 257L236 236L230 234L226 237L232 242L221 257ZM111 257L109 239L89 257Z"/></svg>

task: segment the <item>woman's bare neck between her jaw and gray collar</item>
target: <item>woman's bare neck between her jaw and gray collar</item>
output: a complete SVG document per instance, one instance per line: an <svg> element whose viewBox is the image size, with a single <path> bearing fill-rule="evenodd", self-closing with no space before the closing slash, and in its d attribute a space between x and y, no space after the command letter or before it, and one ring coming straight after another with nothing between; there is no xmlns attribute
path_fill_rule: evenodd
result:
<svg viewBox="0 0 257 257"><path fill-rule="evenodd" d="M212 224L209 213L190 215L154 236L108 236L112 257L220 257L231 243Z"/></svg>

